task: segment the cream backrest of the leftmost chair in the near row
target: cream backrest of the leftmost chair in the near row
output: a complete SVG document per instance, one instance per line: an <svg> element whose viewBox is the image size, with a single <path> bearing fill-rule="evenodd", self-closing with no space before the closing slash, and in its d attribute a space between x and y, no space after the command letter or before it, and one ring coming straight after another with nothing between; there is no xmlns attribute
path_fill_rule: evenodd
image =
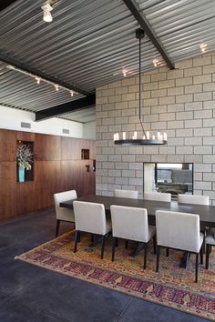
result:
<svg viewBox="0 0 215 322"><path fill-rule="evenodd" d="M105 206L84 201L73 203L76 229L92 234L106 234Z"/></svg>

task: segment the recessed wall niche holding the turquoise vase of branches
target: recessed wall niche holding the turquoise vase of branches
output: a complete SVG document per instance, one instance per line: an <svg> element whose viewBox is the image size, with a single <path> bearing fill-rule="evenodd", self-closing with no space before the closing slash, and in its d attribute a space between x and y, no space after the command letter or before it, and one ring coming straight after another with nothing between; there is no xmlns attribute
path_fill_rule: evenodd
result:
<svg viewBox="0 0 215 322"><path fill-rule="evenodd" d="M16 181L23 183L34 180L34 142L16 143Z"/></svg>

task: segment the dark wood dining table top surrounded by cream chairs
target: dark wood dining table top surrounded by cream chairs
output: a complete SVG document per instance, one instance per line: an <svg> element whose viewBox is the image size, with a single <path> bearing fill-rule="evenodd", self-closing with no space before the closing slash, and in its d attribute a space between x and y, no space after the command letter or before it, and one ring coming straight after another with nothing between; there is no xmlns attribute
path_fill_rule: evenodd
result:
<svg viewBox="0 0 215 322"><path fill-rule="evenodd" d="M156 210L169 210L178 211L189 214L200 215L200 226L215 227L215 206L202 206L191 204L178 204L176 201L163 202L163 201L151 201L143 199L128 199L116 196L96 196L88 195L77 198L78 201L94 202L98 204L104 204L106 212L109 213L111 205L117 206L137 206L146 208L148 210L148 223L150 225L155 224ZM60 203L59 206L73 208L74 200L67 200Z"/></svg>

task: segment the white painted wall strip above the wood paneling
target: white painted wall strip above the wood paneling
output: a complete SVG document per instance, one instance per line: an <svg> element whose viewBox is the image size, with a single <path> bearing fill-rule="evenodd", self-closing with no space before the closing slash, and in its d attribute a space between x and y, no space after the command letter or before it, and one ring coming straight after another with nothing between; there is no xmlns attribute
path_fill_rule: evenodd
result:
<svg viewBox="0 0 215 322"><path fill-rule="evenodd" d="M31 128L27 129L21 127L21 122L30 123ZM85 130L83 130L84 126ZM6 106L0 106L0 128L34 133L43 133L56 136L72 136L80 138L95 138L96 136L95 133L93 137L93 125L83 125L81 123L67 121L56 117L41 122L35 122L34 113ZM69 135L65 135L62 133L63 128L69 129ZM96 132L96 125L94 126L94 128Z"/></svg>

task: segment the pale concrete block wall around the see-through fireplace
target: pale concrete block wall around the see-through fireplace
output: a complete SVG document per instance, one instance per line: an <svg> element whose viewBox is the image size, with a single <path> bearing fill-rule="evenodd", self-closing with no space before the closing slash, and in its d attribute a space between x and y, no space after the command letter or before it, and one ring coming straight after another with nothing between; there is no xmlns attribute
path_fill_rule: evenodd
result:
<svg viewBox="0 0 215 322"><path fill-rule="evenodd" d="M215 55L143 75L145 130L167 132L167 146L115 146L115 132L138 131L138 76L97 88L97 195L143 192L143 162L194 163L194 194L215 205Z"/></svg>

